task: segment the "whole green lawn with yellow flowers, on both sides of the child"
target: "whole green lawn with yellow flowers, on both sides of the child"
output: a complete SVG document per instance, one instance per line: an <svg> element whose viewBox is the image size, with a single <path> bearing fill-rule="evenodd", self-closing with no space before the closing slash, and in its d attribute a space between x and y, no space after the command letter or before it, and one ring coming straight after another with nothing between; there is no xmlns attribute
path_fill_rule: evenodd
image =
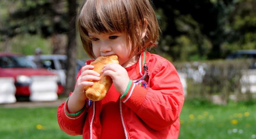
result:
<svg viewBox="0 0 256 139"><path fill-rule="evenodd" d="M0 107L1 139L82 139L61 131L56 107ZM256 104L195 106L185 103L179 139L256 138Z"/></svg>

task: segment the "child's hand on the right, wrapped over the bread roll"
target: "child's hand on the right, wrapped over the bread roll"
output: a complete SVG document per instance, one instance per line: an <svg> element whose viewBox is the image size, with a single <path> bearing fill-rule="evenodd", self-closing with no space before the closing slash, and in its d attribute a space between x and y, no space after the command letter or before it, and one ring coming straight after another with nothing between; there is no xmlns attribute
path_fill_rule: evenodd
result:
<svg viewBox="0 0 256 139"><path fill-rule="evenodd" d="M104 67L105 68L101 70L101 72L103 72L102 76L110 76L115 85L115 89L123 95L130 81L125 68L119 64L108 64L104 65Z"/></svg>

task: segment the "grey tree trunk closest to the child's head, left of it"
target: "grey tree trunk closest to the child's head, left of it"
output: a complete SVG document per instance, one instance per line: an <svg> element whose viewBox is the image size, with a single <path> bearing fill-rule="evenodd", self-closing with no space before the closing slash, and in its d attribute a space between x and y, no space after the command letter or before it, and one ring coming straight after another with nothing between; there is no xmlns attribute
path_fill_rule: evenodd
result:
<svg viewBox="0 0 256 139"><path fill-rule="evenodd" d="M76 29L75 29L75 15L77 9L77 3L74 0L68 0L69 9L69 32L68 32L68 46L67 46L67 73L66 73L66 86L64 95L68 95L74 91L74 85L76 81L75 68L76 68Z"/></svg>

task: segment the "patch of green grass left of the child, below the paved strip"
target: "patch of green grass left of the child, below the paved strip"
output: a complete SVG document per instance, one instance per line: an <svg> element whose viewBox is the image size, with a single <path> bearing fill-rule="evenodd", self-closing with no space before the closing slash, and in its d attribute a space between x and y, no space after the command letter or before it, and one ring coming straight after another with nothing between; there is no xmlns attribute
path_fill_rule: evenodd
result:
<svg viewBox="0 0 256 139"><path fill-rule="evenodd" d="M56 107L0 108L1 139L82 139L70 136L58 125Z"/></svg>

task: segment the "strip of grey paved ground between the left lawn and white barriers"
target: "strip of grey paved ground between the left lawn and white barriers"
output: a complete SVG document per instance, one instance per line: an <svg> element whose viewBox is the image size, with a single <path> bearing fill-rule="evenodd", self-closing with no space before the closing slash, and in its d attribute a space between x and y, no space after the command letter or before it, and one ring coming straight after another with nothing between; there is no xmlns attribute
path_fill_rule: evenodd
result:
<svg viewBox="0 0 256 139"><path fill-rule="evenodd" d="M61 103L66 101L67 98L61 98L56 101L48 102L31 102L31 101L17 101L11 104L0 104L0 107L5 108L20 108L20 107L58 107Z"/></svg>

